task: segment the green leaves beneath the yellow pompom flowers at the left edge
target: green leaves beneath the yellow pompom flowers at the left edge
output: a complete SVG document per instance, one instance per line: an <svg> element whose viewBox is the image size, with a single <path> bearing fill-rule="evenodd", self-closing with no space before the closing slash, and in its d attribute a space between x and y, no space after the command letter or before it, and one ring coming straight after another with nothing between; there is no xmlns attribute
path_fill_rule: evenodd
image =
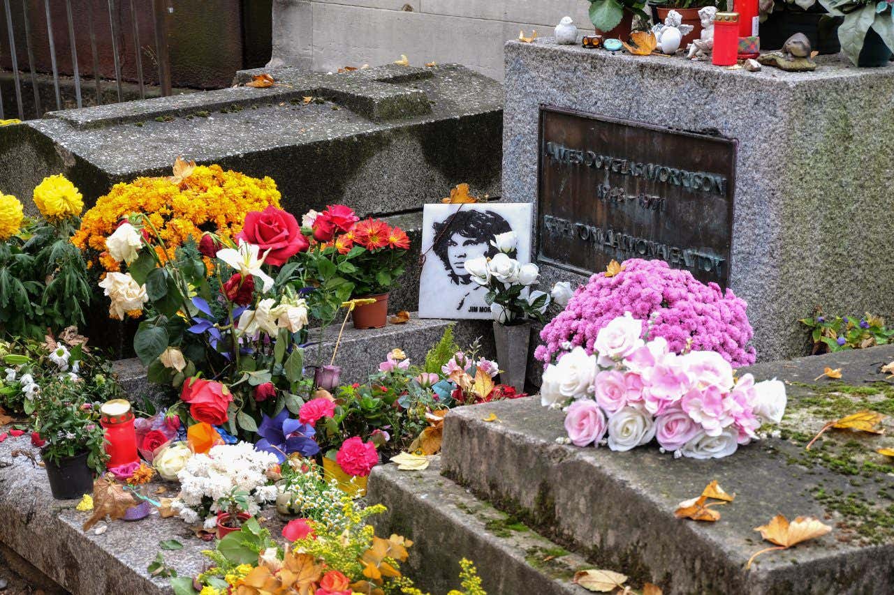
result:
<svg viewBox="0 0 894 595"><path fill-rule="evenodd" d="M93 299L87 264L71 242L78 220L28 222L0 242L0 330L40 339L85 323Z"/></svg>

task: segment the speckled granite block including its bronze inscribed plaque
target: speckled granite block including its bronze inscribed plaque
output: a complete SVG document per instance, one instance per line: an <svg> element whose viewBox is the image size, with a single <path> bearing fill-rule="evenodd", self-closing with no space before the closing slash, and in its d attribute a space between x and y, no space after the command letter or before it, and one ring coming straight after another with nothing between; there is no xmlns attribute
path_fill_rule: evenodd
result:
<svg viewBox="0 0 894 595"><path fill-rule="evenodd" d="M503 199L536 205L544 285L662 258L747 301L763 361L806 353L814 306L894 314L894 66L817 62L507 44Z"/></svg>

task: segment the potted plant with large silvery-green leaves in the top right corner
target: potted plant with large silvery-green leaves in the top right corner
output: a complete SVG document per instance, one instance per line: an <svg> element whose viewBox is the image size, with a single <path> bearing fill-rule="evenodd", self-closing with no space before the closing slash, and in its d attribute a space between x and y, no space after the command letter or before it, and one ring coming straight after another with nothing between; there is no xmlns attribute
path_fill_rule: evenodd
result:
<svg viewBox="0 0 894 595"><path fill-rule="evenodd" d="M887 0L820 0L829 14L843 17L841 52L857 66L884 66L894 49L894 22Z"/></svg>

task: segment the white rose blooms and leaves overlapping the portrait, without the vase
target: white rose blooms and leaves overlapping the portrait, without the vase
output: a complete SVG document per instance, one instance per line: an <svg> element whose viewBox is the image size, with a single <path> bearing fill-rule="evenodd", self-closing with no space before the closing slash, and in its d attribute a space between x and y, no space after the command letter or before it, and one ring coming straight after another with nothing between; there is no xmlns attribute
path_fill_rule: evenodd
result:
<svg viewBox="0 0 894 595"><path fill-rule="evenodd" d="M515 231L507 231L493 237L491 245L500 252L488 258L481 256L466 261L466 272L472 281L488 289L485 302L491 306L493 320L500 324L520 324L529 319L544 320L547 309L555 300L568 303L570 287L567 282L557 283L552 294L532 290L537 285L540 269L536 264L521 264L509 255L519 244Z"/></svg>

